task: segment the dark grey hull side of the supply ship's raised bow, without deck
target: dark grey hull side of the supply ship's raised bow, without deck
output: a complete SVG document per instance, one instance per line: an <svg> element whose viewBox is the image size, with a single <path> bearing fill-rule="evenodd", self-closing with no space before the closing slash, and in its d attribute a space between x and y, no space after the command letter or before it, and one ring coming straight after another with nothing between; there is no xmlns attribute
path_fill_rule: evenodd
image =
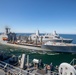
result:
<svg viewBox="0 0 76 75"><path fill-rule="evenodd" d="M76 53L76 45L75 46L42 45L41 47L44 49L49 49L51 52Z"/></svg>

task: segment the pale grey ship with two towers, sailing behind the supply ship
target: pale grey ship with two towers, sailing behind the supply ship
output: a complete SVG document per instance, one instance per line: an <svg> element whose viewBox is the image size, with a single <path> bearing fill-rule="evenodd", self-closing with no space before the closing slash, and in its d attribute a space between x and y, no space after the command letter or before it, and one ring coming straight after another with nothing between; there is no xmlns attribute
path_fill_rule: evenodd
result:
<svg viewBox="0 0 76 75"><path fill-rule="evenodd" d="M51 41L51 42L65 42L65 43L71 43L73 39L67 39L59 36L59 34L54 31L53 33L50 34L45 34L45 35L40 35L39 30L36 31L35 34L32 34L29 36L29 39L35 41L36 39L40 41L42 39L43 42Z"/></svg>

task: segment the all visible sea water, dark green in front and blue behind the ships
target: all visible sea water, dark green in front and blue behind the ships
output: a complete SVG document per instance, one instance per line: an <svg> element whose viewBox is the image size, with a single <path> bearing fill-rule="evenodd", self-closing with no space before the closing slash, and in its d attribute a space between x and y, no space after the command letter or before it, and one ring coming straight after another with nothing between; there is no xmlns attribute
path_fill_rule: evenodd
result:
<svg viewBox="0 0 76 75"><path fill-rule="evenodd" d="M30 35L30 34L18 34L18 35ZM64 38L73 39L73 43L76 43L76 35L74 34L60 34L60 36ZM59 65L62 62L70 63L73 58L76 58L76 54L71 53L42 53L42 52L34 52L28 49L23 48L15 48L9 47L5 45L0 45L0 52L5 53L6 55L17 55L20 56L21 54L28 54L30 59L42 59L42 61L46 64L50 64L51 62L53 65Z"/></svg>

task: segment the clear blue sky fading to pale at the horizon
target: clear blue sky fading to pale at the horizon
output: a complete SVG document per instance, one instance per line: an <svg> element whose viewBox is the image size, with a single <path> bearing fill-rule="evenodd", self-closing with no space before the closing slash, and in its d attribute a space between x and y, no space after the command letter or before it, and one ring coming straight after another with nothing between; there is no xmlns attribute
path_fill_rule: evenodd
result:
<svg viewBox="0 0 76 75"><path fill-rule="evenodd" d="M0 0L0 32L76 34L76 0Z"/></svg>

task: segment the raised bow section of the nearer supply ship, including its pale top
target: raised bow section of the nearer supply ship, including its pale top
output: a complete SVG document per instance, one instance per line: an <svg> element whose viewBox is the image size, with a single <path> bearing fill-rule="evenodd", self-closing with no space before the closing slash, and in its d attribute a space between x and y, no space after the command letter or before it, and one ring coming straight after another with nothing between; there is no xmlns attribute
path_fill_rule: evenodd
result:
<svg viewBox="0 0 76 75"><path fill-rule="evenodd" d="M44 49L49 49L51 52L67 52L76 53L76 44L64 42L46 42L41 46Z"/></svg>

